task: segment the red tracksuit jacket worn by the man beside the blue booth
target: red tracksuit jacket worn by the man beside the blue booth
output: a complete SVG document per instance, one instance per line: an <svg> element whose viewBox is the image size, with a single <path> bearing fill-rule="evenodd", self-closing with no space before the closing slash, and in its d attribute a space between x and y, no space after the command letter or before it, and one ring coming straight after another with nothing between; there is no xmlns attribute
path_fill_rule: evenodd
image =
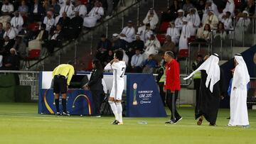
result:
<svg viewBox="0 0 256 144"><path fill-rule="evenodd" d="M173 92L181 90L179 64L176 60L172 60L169 64L166 64L166 82L164 87Z"/></svg>

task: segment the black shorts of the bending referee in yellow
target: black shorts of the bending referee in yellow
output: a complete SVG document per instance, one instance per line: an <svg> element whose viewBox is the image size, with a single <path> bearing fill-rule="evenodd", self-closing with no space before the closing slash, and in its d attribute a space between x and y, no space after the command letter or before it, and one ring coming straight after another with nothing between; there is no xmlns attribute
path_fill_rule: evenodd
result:
<svg viewBox="0 0 256 144"><path fill-rule="evenodd" d="M53 92L55 94L67 94L67 79L63 75L53 77Z"/></svg>

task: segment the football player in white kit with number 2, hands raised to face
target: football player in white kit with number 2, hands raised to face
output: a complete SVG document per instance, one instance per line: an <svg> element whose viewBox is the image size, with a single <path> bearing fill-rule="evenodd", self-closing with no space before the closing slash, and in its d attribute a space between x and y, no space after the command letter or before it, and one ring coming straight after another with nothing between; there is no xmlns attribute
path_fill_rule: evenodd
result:
<svg viewBox="0 0 256 144"><path fill-rule="evenodd" d="M122 61L124 52L117 50L114 52L114 59L108 63L105 70L113 70L113 84L110 93L109 103L114 113L115 120L112 122L114 125L122 125L122 92L124 90L124 72L125 62Z"/></svg>

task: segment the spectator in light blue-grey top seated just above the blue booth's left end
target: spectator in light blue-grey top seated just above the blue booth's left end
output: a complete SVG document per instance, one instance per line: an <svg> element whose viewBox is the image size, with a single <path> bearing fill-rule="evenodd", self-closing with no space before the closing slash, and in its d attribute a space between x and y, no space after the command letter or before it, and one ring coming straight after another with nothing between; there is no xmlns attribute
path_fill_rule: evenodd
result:
<svg viewBox="0 0 256 144"><path fill-rule="evenodd" d="M140 53L141 51L137 48L135 54L132 56L131 60L131 72L142 72L143 56Z"/></svg>

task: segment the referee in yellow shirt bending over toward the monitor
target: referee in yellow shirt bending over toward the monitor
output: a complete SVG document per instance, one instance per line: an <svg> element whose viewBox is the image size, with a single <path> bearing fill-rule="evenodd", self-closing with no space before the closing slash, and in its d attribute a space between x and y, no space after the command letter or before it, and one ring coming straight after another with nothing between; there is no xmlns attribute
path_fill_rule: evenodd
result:
<svg viewBox="0 0 256 144"><path fill-rule="evenodd" d="M60 93L62 94L62 101L61 101L61 104L63 106L62 115L70 116L70 114L67 112L66 99L67 99L68 85L70 84L73 74L75 74L74 67L68 64L58 65L58 67L55 67L55 69L53 70L53 92L55 94L54 99L55 99L55 106L57 110L55 114L58 116L60 115L60 108L59 108Z"/></svg>

